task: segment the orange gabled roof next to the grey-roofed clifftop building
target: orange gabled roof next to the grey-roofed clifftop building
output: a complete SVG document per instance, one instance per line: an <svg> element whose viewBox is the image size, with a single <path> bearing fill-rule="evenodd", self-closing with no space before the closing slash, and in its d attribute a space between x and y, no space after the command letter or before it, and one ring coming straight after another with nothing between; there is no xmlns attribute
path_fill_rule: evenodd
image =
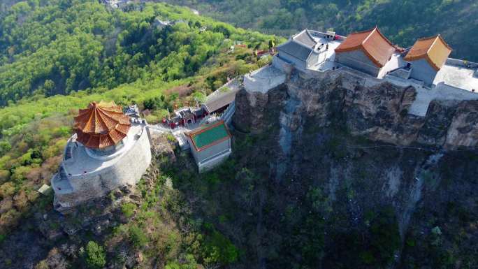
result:
<svg viewBox="0 0 478 269"><path fill-rule="evenodd" d="M363 50L376 66L383 67L389 61L391 54L393 54L396 48L375 27L367 31L349 34L345 41L335 49L335 52L349 52L352 50Z"/></svg>

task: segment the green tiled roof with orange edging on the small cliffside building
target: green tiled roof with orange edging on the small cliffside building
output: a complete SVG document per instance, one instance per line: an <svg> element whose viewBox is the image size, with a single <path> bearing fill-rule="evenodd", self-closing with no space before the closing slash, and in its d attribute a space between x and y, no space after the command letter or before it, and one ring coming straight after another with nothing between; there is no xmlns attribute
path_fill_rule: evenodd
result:
<svg viewBox="0 0 478 269"><path fill-rule="evenodd" d="M223 120L198 127L187 133L187 136L191 138L193 146L198 152L231 138L231 134Z"/></svg>

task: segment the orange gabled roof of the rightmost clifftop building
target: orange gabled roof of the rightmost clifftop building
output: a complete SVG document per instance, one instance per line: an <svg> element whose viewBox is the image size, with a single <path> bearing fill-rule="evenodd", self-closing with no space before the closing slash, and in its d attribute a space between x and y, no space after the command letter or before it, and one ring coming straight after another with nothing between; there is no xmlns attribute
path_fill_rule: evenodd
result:
<svg viewBox="0 0 478 269"><path fill-rule="evenodd" d="M405 61L426 59L430 66L439 71L450 53L449 45L443 40L442 36L437 35L417 40L404 59Z"/></svg>

